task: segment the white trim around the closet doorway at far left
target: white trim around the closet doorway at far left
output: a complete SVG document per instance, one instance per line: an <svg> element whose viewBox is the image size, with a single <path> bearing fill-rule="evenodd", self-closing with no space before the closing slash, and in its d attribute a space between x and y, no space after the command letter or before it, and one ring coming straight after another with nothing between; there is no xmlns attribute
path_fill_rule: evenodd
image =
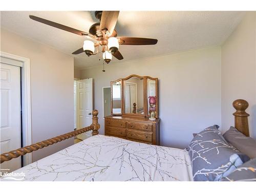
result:
<svg viewBox="0 0 256 192"><path fill-rule="evenodd" d="M0 51L2 57L22 61L23 66L21 67L22 75L22 127L23 127L23 146L32 144L31 135L31 95L30 95L30 59L20 57ZM29 153L24 156L23 165L32 163L32 154Z"/></svg>

